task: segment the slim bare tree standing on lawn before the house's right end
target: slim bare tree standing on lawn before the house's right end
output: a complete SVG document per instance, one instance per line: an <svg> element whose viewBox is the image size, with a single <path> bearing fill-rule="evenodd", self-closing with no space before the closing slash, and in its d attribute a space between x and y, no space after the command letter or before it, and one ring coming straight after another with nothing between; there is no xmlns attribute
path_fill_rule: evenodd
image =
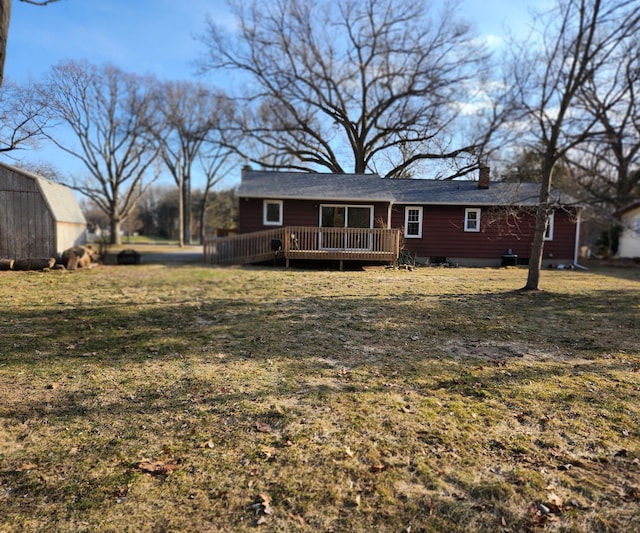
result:
<svg viewBox="0 0 640 533"><path fill-rule="evenodd" d="M558 0L538 20L542 32L517 50L514 79L526 116L541 146L542 178L525 290L540 282L544 235L553 208L551 188L558 162L594 135L596 120L580 112L578 94L621 43L638 31L635 0Z"/></svg>

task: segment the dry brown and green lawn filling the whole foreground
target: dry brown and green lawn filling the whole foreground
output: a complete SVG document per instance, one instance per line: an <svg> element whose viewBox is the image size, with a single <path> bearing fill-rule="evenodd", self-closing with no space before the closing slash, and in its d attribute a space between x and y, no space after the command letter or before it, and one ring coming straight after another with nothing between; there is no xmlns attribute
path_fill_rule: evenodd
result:
<svg viewBox="0 0 640 533"><path fill-rule="evenodd" d="M640 530L640 270L0 272L0 531Z"/></svg>

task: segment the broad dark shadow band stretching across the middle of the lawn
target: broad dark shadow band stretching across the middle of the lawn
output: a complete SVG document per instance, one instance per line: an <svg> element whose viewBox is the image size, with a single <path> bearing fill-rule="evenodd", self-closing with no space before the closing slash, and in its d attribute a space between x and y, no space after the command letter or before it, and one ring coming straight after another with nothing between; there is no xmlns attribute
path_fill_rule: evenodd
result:
<svg viewBox="0 0 640 533"><path fill-rule="evenodd" d="M637 300L625 290L564 295L506 292L387 298L301 297L117 302L72 311L13 310L0 323L0 364L43 369L76 360L108 365L209 357L395 365L452 357L452 339L597 357L640 345ZM519 348L518 348L519 347ZM506 354L506 355L505 355ZM469 354L473 356L473 353Z"/></svg>

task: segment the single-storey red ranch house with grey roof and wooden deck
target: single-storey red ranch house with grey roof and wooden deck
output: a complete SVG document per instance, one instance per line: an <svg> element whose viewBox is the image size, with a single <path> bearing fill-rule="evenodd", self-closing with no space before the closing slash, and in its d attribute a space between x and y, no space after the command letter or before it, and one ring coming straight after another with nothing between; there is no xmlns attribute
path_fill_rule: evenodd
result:
<svg viewBox="0 0 640 533"><path fill-rule="evenodd" d="M287 262L395 262L402 249L424 262L527 264L538 191L534 183L489 182L488 169L478 181L444 181L245 167L238 190L240 235L217 239L206 254L219 263L274 254ZM557 192L552 197L544 262L570 265L577 258L579 209Z"/></svg>

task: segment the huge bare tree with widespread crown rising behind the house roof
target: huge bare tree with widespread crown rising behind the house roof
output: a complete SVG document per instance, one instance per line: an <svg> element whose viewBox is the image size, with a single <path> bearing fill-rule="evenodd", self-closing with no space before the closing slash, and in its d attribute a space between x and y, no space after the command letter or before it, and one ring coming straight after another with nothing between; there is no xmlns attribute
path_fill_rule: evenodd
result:
<svg viewBox="0 0 640 533"><path fill-rule="evenodd" d="M485 132L458 128L482 83L485 50L455 6L429 16L411 0L253 0L238 28L209 21L205 70L229 69L248 92L238 127L267 168L377 171L421 162L478 168ZM465 105L461 105L464 103Z"/></svg>

